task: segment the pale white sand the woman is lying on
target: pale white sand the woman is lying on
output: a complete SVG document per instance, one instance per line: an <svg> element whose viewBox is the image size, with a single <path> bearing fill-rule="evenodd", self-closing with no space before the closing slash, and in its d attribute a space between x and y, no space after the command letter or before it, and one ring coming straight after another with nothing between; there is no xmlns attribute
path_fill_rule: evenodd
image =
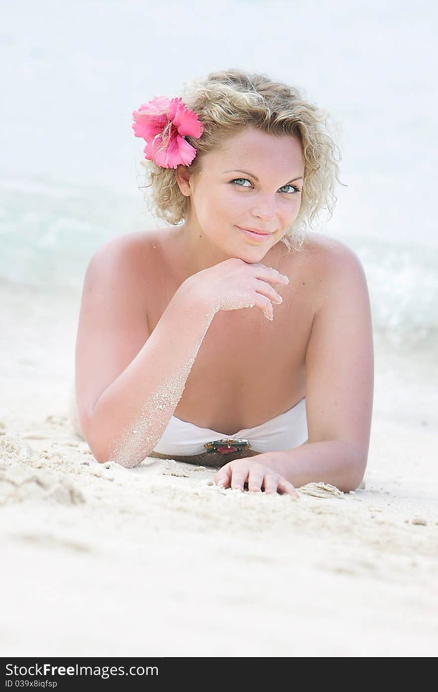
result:
<svg viewBox="0 0 438 692"><path fill-rule="evenodd" d="M3 656L435 656L436 391L376 345L365 488L300 499L98 464L71 420L80 296L0 284Z"/></svg>

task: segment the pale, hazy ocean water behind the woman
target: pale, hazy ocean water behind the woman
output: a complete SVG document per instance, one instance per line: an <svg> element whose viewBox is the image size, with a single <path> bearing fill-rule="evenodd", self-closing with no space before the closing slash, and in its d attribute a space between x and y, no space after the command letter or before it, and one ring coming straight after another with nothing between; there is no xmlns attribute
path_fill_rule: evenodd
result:
<svg viewBox="0 0 438 692"><path fill-rule="evenodd" d="M0 288L80 291L145 210L131 113L241 67L295 84L338 122L338 203L316 228L358 253L382 343L438 344L434 3L18 1L0 29ZM143 141L143 140L142 140Z"/></svg>

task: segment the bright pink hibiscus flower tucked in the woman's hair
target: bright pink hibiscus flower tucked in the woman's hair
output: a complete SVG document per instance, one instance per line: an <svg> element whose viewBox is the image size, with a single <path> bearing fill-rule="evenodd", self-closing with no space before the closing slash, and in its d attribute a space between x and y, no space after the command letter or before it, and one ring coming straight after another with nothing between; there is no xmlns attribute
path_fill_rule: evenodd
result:
<svg viewBox="0 0 438 692"><path fill-rule="evenodd" d="M147 145L143 149L145 158L162 168L176 168L179 163L190 165L197 155L185 135L200 137L203 132L198 116L183 103L181 96L169 100L165 96L154 96L144 103L132 117L132 129L136 137L143 137Z"/></svg>

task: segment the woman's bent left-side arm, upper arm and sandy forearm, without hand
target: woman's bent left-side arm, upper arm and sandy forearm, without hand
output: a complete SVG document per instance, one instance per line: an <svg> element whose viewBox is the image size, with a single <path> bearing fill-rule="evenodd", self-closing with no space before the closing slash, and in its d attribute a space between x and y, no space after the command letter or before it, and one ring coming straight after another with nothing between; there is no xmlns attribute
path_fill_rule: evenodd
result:
<svg viewBox="0 0 438 692"><path fill-rule="evenodd" d="M131 468L161 439L215 308L184 282L149 336L145 316L130 307L142 304L134 293L138 286L127 289L133 257L119 247L115 259L112 248L111 261L108 248L93 258L84 281L76 345L77 400L84 437L98 462L113 459ZM120 291L125 295L120 297ZM145 343L132 356L133 343L135 348L140 338ZM110 384L102 386L107 381Z"/></svg>

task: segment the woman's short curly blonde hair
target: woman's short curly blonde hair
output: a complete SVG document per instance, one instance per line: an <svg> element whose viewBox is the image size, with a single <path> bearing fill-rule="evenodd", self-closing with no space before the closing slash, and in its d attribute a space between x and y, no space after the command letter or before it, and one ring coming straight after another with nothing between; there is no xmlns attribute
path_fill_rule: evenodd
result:
<svg viewBox="0 0 438 692"><path fill-rule="evenodd" d="M340 183L338 161L341 156L328 134L329 113L304 100L294 86L275 82L263 73L228 69L184 82L183 86L183 102L197 113L203 125L200 138L185 136L197 149L197 155L188 166L191 173L201 169L203 154L221 147L248 125L268 134L298 137L304 156L301 205L281 242L288 252L300 250L307 228L313 228L313 221L319 219L323 209L327 208L330 218L338 199L334 187L336 181ZM336 129L336 123L331 122ZM176 169L162 168L148 159L142 159L140 165L145 167L145 188L151 188L152 192L145 192L147 207L167 223L179 224L185 219L190 197L179 189Z"/></svg>

